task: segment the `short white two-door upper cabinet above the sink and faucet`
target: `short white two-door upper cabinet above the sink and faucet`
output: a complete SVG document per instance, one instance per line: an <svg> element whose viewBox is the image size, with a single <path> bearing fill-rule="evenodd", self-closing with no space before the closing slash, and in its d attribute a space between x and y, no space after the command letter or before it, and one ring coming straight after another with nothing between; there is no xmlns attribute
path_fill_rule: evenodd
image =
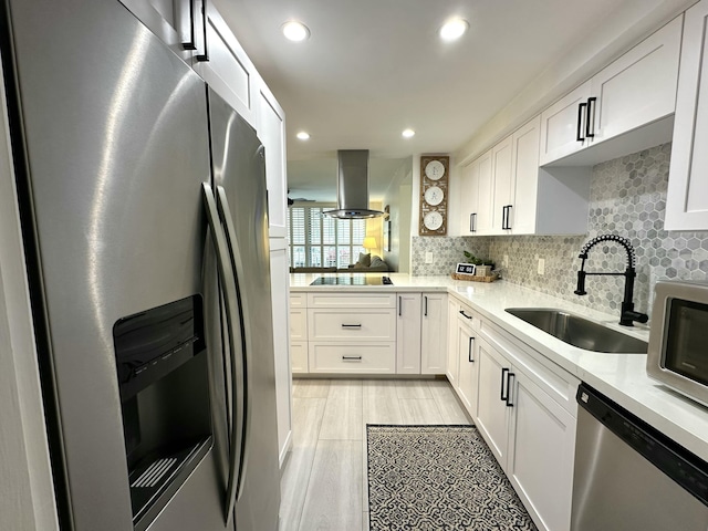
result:
<svg viewBox="0 0 708 531"><path fill-rule="evenodd" d="M543 111L541 166L593 165L670 139L662 118L676 108L681 28L679 15Z"/></svg>

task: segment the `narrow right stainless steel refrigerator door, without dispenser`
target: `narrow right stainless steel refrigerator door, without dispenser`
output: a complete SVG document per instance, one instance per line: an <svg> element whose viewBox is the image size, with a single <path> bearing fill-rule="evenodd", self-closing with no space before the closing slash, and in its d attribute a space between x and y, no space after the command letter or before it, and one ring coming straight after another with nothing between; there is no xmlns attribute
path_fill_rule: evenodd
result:
<svg viewBox="0 0 708 531"><path fill-rule="evenodd" d="M208 93L215 189L223 188L221 207L228 205L240 262L247 398L236 523L239 531L275 531L280 471L263 147L236 111Z"/></svg>

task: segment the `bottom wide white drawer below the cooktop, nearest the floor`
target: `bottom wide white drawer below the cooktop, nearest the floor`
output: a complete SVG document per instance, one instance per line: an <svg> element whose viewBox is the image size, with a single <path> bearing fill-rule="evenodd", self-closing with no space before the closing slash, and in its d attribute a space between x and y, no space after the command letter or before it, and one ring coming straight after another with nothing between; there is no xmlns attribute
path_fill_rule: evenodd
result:
<svg viewBox="0 0 708 531"><path fill-rule="evenodd" d="M310 343L311 373L376 373L396 372L395 343L343 345Z"/></svg>

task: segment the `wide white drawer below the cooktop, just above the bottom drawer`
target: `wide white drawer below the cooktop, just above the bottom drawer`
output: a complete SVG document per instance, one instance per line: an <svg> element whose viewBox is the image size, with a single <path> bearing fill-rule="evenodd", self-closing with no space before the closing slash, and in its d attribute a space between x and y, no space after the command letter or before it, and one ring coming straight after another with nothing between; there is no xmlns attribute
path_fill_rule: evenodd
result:
<svg viewBox="0 0 708 531"><path fill-rule="evenodd" d="M308 310L310 341L396 341L395 310Z"/></svg>

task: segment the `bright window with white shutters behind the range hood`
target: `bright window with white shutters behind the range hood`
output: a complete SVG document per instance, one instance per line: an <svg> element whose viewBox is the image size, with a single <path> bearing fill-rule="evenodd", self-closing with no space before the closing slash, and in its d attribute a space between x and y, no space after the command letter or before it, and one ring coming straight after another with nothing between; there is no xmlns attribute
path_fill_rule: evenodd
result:
<svg viewBox="0 0 708 531"><path fill-rule="evenodd" d="M336 219L322 212L332 207L292 206L288 209L291 268L344 269L364 252L363 219Z"/></svg>

